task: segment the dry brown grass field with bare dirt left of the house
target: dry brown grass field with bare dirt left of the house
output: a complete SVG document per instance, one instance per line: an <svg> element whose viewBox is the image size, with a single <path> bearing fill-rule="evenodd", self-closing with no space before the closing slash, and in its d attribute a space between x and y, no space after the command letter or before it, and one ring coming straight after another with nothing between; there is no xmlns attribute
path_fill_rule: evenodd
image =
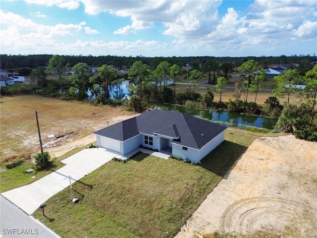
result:
<svg viewBox="0 0 317 238"><path fill-rule="evenodd" d="M137 116L123 107L95 107L39 95L2 97L1 160L12 154L40 151L35 111L38 112L43 146L51 156L95 141L92 132Z"/></svg>

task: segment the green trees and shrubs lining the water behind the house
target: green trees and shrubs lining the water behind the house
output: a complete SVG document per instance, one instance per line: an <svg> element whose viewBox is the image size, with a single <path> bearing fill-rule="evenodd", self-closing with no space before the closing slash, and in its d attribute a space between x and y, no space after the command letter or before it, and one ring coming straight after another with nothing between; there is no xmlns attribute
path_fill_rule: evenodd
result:
<svg viewBox="0 0 317 238"><path fill-rule="evenodd" d="M158 58L157 58L158 59ZM282 57L282 59L284 59ZM304 57L306 59L306 57ZM306 59L296 67L290 67L283 73L273 78L272 92L275 97L269 97L264 106L256 103L258 92L263 89L263 82L267 80L265 64L258 60L243 62L236 71L231 62L219 63L214 59L207 60L204 64L187 64L184 70L179 64L171 64L167 60L160 59L156 67L145 62L136 60L128 68L128 73L119 75L112 65L103 64L97 68L98 74L92 75L90 66L86 62L78 62L72 66L73 75L64 78L63 73L71 66L64 56L54 55L47 63L47 67L37 66L30 72L31 80L37 84L36 90L49 97L60 97L63 100L87 100L87 90L91 89L96 105L124 104L126 109L141 111L147 101L160 103L181 104L188 107L201 108L227 108L230 111L248 114L262 114L264 116L280 117L278 126L294 133L300 138L317 140L317 122L315 117L316 94L317 94L317 65ZM118 66L116 66L118 67ZM55 72L58 80L48 79L47 76ZM236 72L243 75L242 87L235 85L233 100L222 102L222 93L230 79L230 74ZM193 89L187 92L176 93L176 82L180 76L187 73L189 83ZM201 95L196 92L196 84L203 81L207 75L208 83L213 84L212 90L206 89ZM111 87L119 89L121 82L129 79L136 89L127 101L110 99ZM168 81L173 80L172 85ZM302 99L295 101L291 95L298 92L297 85L305 85ZM241 100L241 90L244 90L244 101ZM219 101L214 101L212 91L219 94ZM255 92L254 102L249 102L249 93ZM1 89L5 94L5 89ZM287 103L282 106L278 98L287 98ZM291 103L290 101L294 102Z"/></svg>

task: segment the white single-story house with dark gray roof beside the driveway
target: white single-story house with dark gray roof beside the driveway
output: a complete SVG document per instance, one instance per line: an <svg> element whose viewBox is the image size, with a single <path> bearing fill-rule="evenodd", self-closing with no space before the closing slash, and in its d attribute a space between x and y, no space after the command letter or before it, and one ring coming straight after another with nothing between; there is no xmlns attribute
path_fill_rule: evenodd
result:
<svg viewBox="0 0 317 238"><path fill-rule="evenodd" d="M171 149L198 163L224 140L226 126L184 113L153 110L94 132L97 146L125 155L140 146Z"/></svg>

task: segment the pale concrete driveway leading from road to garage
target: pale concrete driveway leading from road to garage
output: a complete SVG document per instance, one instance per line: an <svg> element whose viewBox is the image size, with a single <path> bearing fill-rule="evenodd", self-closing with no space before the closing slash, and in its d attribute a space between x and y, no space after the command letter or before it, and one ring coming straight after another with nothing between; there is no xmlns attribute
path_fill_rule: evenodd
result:
<svg viewBox="0 0 317 238"><path fill-rule="evenodd" d="M27 214L32 214L46 200L69 186L68 176L73 183L106 164L113 157L120 156L103 148L84 149L62 160L61 162L66 164L63 168L31 184L3 192L2 195Z"/></svg>

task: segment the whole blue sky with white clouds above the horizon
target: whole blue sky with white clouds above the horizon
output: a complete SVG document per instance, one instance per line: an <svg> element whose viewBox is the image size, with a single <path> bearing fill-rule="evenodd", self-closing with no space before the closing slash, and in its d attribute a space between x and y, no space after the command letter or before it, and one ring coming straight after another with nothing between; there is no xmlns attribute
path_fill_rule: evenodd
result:
<svg viewBox="0 0 317 238"><path fill-rule="evenodd" d="M0 0L1 54L317 54L316 0Z"/></svg>

